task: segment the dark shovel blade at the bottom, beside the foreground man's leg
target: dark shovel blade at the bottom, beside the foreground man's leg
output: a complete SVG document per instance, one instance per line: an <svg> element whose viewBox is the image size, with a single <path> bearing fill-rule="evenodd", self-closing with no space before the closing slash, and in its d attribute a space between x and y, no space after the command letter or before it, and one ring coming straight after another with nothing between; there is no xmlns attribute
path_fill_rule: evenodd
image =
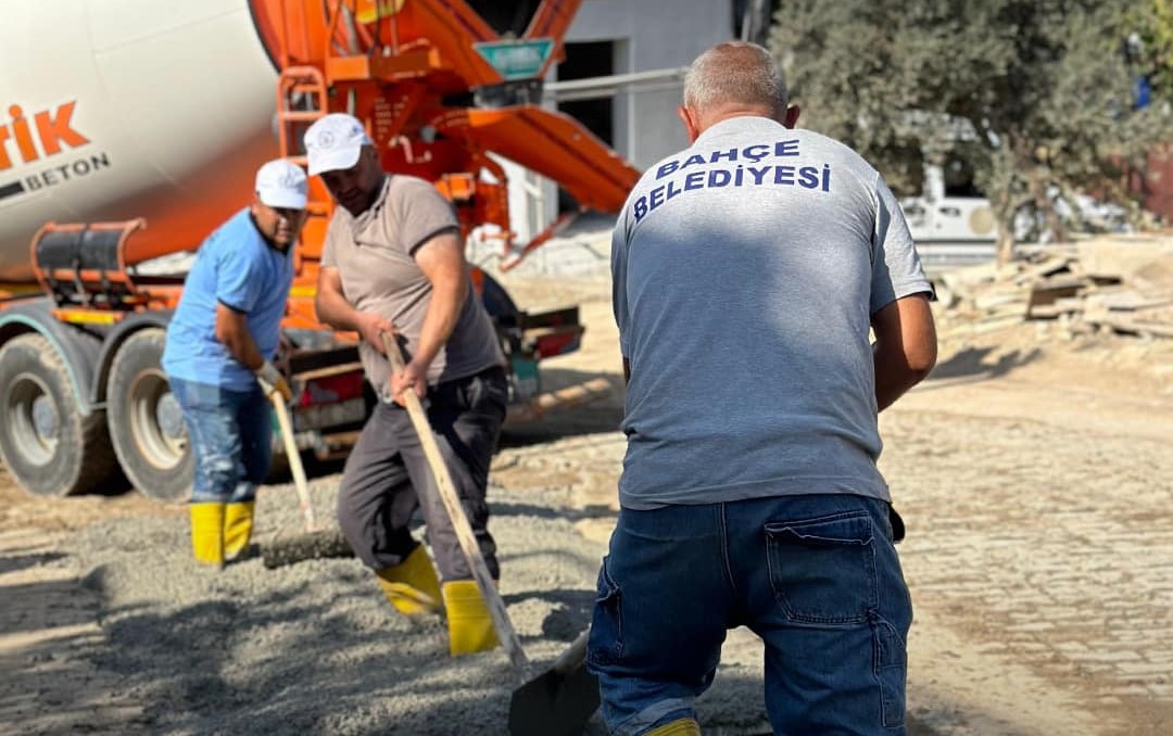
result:
<svg viewBox="0 0 1173 736"><path fill-rule="evenodd" d="M514 690L511 736L579 736L598 710L598 682L586 668L550 670Z"/></svg>

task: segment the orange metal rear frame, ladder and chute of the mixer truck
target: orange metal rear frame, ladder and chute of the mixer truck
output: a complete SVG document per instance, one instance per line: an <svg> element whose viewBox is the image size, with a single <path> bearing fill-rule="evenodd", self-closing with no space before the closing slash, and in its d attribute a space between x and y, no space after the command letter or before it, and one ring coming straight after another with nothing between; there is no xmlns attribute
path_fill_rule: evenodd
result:
<svg viewBox="0 0 1173 736"><path fill-rule="evenodd" d="M581 4L544 0L522 34L520 40L552 42L538 77L564 59L562 39ZM434 182L456 205L466 236L476 225L496 225L506 233L506 252L515 254L537 247L550 231L521 247L511 244L506 176L489 152L554 179L583 209L617 211L639 178L565 115L536 104L483 109L454 102L506 83L474 47L504 39L462 0L251 0L251 6L282 69L282 155L293 161L304 163L300 134L313 120L351 113L366 122L386 170ZM314 179L299 284L317 278L332 209Z"/></svg>

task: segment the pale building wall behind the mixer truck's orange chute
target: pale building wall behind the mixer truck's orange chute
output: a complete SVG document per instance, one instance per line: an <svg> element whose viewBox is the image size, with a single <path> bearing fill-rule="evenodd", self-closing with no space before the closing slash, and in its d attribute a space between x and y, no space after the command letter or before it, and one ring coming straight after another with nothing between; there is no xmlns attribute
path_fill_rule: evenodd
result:
<svg viewBox="0 0 1173 736"><path fill-rule="evenodd" d="M615 73L685 67L701 52L732 39L732 0L584 0L567 43L615 42ZM548 81L556 81L556 70ZM689 143L677 117L680 87L621 91L615 97L615 149L644 170ZM554 103L550 103L554 107ZM557 188L506 163L510 226L518 245L557 217ZM535 196L535 186L541 191Z"/></svg>

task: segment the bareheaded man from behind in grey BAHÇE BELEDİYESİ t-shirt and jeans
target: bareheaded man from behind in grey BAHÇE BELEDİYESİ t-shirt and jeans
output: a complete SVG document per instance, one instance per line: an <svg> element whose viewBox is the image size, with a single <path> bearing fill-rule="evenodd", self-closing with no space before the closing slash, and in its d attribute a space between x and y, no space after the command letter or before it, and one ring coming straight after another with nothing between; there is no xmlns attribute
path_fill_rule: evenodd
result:
<svg viewBox="0 0 1173 736"><path fill-rule="evenodd" d="M612 239L628 452L588 657L608 725L697 732L745 625L775 732L900 732L911 607L876 414L936 360L931 285L876 170L792 129L768 52L701 55L680 113L692 145Z"/></svg>

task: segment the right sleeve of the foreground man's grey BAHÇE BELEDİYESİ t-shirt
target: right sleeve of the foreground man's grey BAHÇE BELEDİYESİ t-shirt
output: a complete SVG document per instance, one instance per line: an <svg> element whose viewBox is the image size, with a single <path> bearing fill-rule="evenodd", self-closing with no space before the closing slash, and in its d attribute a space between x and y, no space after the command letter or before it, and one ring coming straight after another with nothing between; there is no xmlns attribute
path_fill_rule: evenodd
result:
<svg viewBox="0 0 1173 736"><path fill-rule="evenodd" d="M888 189L883 178L876 175L876 220L872 234L872 299L870 313L875 314L887 305L911 294L928 293L933 298L933 285L924 275L921 258L916 253L913 233L900 203Z"/></svg>

